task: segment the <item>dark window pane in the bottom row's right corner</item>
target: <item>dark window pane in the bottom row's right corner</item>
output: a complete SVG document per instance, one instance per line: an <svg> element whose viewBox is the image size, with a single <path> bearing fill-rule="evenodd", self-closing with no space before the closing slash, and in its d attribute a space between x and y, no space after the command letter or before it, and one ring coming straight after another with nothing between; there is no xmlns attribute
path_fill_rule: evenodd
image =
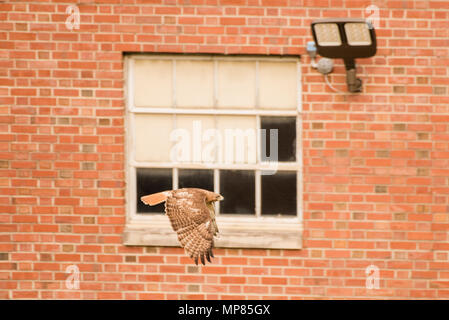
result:
<svg viewBox="0 0 449 320"><path fill-rule="evenodd" d="M296 215L296 172L262 175L262 214Z"/></svg>

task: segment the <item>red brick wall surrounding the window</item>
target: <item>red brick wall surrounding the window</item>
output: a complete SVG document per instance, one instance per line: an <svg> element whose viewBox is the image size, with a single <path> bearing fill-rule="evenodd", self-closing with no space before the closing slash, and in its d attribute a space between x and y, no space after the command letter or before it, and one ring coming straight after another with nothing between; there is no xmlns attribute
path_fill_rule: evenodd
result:
<svg viewBox="0 0 449 320"><path fill-rule="evenodd" d="M70 4L0 3L0 298L449 298L449 2L82 1L72 31ZM310 22L371 4L364 93L334 93L305 54ZM303 54L304 249L195 267L121 244L123 52Z"/></svg>

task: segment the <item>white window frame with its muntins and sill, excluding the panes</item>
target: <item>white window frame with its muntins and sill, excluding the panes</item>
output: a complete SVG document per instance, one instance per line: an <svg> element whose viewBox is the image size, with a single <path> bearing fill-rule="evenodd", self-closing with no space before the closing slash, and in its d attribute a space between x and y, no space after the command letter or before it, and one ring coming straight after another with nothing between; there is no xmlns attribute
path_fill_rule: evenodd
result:
<svg viewBox="0 0 449 320"><path fill-rule="evenodd" d="M176 108L154 108L135 107L134 105L134 61L139 59L157 60L194 60L215 61L215 77L217 76L217 61L256 61L256 77L258 76L258 61L289 61L297 63L297 108L296 110L266 110L256 107L251 110L242 109L188 109ZM175 82L176 62L173 64L173 82ZM268 249L300 249L302 248L303 233L303 165L302 165L302 90L301 90L301 65L299 56L249 56L249 55L184 55L184 54L131 54L125 56L125 163L126 163L126 226L123 234L125 245L145 246L179 246L175 232L170 222L163 214L139 214L136 211L136 168L174 168L173 188L177 186L178 169L212 169L214 170L215 191L219 188L219 169L231 170L253 170L255 171L255 215L226 214L217 216L217 224L220 236L216 238L217 247L231 248L268 248ZM215 81L217 83L217 81ZM258 83L258 81L256 81ZM257 87L257 85L256 85ZM175 91L175 90L174 90ZM217 86L214 90L214 101L216 104ZM258 88L256 88L256 99L258 100ZM232 164L232 165L210 165L201 164L175 164L171 162L142 162L135 161L133 136L133 114L188 114L188 115L253 115L256 117L257 129L260 129L261 116L295 116L296 117L296 161L278 163L279 171L296 172L297 193L297 216L272 217L261 215L261 169L263 164ZM260 150L260 139L258 141L258 152ZM217 185L218 184L218 185Z"/></svg>

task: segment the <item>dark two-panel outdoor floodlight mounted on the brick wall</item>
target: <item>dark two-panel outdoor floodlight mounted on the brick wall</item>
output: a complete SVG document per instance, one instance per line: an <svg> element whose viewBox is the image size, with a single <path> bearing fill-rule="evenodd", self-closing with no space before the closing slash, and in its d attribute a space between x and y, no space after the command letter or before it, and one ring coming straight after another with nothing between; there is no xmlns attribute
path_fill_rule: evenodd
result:
<svg viewBox="0 0 449 320"><path fill-rule="evenodd" d="M355 59L376 54L373 25L364 19L320 19L312 22L312 34L318 54L344 60L348 90L362 91L362 80L356 77Z"/></svg>

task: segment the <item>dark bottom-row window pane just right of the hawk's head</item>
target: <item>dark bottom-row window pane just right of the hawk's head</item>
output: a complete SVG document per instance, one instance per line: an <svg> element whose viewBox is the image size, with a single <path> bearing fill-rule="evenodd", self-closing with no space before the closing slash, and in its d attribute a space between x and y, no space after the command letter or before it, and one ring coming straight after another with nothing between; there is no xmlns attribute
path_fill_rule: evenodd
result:
<svg viewBox="0 0 449 320"><path fill-rule="evenodd" d="M220 170L220 213L255 213L254 171Z"/></svg>

